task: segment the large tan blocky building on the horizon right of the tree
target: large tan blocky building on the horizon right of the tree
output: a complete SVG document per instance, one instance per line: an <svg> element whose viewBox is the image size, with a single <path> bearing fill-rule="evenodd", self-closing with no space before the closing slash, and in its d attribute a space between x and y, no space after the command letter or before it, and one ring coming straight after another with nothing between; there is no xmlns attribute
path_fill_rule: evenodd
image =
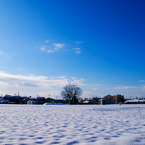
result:
<svg viewBox="0 0 145 145"><path fill-rule="evenodd" d="M117 94L117 95L106 95L104 96L104 100L106 104L119 104L121 102L124 102L124 96Z"/></svg>

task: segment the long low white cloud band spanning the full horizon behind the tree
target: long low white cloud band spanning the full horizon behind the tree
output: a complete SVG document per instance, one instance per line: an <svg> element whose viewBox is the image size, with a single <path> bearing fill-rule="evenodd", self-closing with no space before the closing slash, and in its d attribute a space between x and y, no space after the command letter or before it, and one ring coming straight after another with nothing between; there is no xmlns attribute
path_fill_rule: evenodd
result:
<svg viewBox="0 0 145 145"><path fill-rule="evenodd" d="M67 84L76 84L80 86L83 90L82 97L92 97L100 94L104 96L105 94L121 93L124 95L140 94L143 95L145 92L145 86L117 86L109 88L109 91L104 88L101 84L86 84L85 79L77 77L67 77L67 76L57 76L57 77L47 77L47 76L36 76L36 75L14 75L0 71L0 93L5 95L15 94L20 92L20 95L27 96L40 96L51 97L60 96L62 88ZM96 94L97 93L97 94ZM139 96L139 95L138 95Z"/></svg>

